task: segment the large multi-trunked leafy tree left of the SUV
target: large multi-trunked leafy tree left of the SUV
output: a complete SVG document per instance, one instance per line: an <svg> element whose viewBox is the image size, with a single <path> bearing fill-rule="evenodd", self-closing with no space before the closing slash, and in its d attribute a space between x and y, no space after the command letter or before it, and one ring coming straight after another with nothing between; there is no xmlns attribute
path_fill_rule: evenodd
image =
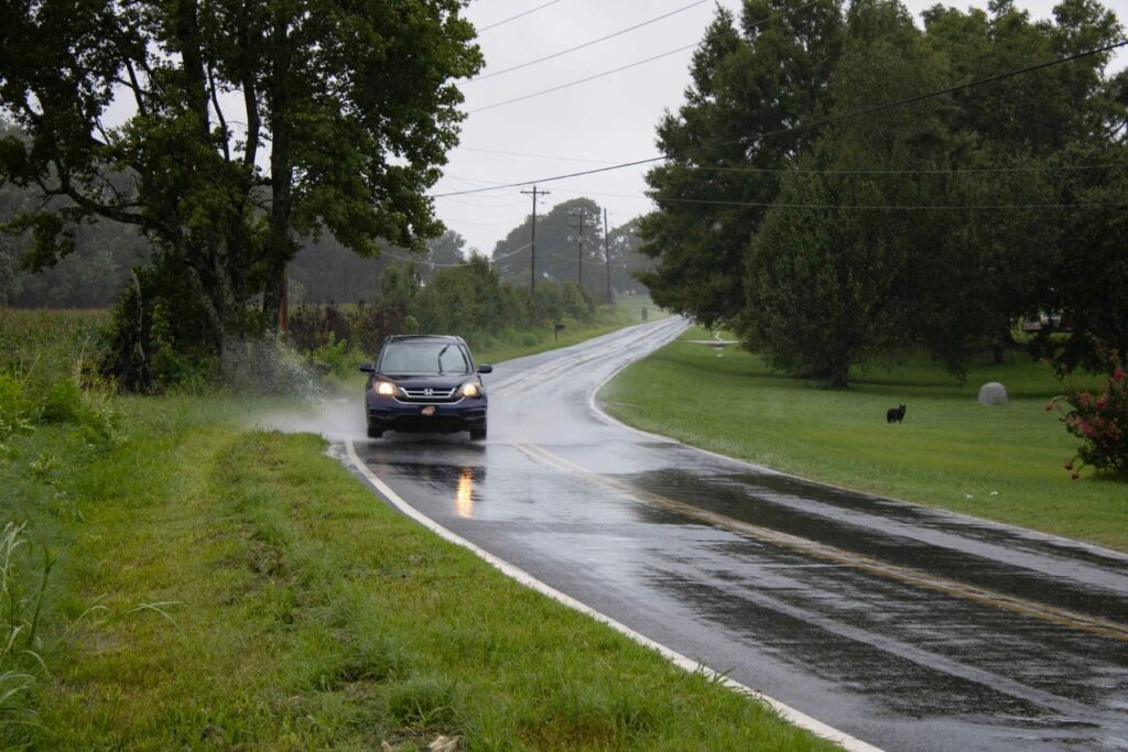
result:
<svg viewBox="0 0 1128 752"><path fill-rule="evenodd" d="M44 202L9 227L34 237L26 264L88 218L135 224L218 347L256 293L276 320L300 237L421 246L441 231L424 191L456 142L451 79L482 63L464 5L6 2L0 106L27 138L0 142L0 178Z"/></svg>

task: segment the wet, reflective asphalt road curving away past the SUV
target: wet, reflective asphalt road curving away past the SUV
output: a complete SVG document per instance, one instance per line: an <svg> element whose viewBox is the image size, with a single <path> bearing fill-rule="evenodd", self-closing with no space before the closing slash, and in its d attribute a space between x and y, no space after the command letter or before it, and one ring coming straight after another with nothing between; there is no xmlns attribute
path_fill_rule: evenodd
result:
<svg viewBox="0 0 1128 752"><path fill-rule="evenodd" d="M485 444L389 434L356 451L464 538L871 744L1128 749L1128 556L600 418L593 390L684 326L500 365Z"/></svg>

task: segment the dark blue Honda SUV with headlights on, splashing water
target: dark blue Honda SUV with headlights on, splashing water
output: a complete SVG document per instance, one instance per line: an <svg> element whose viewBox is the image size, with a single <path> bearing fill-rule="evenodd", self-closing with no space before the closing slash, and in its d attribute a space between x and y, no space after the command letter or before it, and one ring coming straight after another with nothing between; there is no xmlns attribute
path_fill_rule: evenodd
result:
<svg viewBox="0 0 1128 752"><path fill-rule="evenodd" d="M461 337L397 335L384 340L376 365L365 363L368 435L385 431L453 433L486 437L486 390Z"/></svg>

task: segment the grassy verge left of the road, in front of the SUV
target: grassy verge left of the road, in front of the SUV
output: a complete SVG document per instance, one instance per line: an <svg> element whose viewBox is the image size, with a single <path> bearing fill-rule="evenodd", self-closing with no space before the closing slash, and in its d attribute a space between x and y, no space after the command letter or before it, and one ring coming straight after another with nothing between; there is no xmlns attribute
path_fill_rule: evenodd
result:
<svg viewBox="0 0 1128 752"><path fill-rule="evenodd" d="M115 445L44 428L3 466L7 516L61 551L7 744L830 746L426 533L319 439L240 431L237 400L120 409Z"/></svg>

